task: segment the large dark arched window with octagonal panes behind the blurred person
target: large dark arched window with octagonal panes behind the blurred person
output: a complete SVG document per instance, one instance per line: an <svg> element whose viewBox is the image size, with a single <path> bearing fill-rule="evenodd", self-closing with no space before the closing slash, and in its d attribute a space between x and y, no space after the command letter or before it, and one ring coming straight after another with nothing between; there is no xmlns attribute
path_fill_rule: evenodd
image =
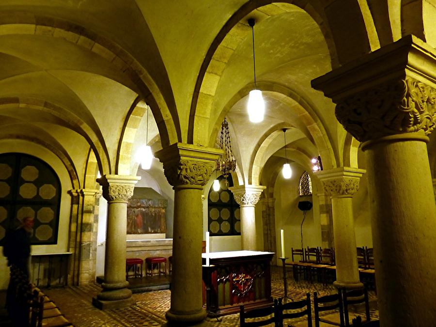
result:
<svg viewBox="0 0 436 327"><path fill-rule="evenodd" d="M21 153L0 155L0 240L22 218L33 217L31 244L56 244L61 183L44 161Z"/></svg>

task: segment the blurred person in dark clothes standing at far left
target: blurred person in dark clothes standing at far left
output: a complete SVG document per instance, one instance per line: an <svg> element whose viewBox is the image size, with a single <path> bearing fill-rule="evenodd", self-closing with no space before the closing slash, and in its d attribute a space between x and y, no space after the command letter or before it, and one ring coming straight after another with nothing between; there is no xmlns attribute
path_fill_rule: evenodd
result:
<svg viewBox="0 0 436 327"><path fill-rule="evenodd" d="M31 292L29 282L29 259L33 217L25 217L16 230L6 233L3 255L10 267L10 280L6 293L6 308L14 326L29 326L28 299Z"/></svg>

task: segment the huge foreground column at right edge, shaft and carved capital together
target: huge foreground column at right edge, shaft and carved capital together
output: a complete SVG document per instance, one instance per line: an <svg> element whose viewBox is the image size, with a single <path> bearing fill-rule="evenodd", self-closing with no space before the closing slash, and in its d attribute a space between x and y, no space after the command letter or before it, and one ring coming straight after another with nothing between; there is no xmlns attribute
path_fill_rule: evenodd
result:
<svg viewBox="0 0 436 327"><path fill-rule="evenodd" d="M312 81L364 142L384 327L436 321L436 204L425 144L435 128L435 81L436 51L412 35Z"/></svg>

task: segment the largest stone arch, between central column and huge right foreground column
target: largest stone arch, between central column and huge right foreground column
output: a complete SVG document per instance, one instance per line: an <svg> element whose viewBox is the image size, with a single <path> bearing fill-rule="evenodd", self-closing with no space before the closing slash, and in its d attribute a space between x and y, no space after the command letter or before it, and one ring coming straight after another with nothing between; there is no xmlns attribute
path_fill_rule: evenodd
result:
<svg viewBox="0 0 436 327"><path fill-rule="evenodd" d="M277 5L279 2L282 3L281 6ZM208 125L213 96L220 79L220 68L217 70L216 67L222 67L230 58L236 47L234 40L243 39L249 33L248 26L241 20L250 13L254 15L255 11L259 12L258 16L281 14L286 11L286 6L291 4L308 13L319 26L327 43L332 67L338 67L341 63L370 52L367 27L358 1L332 3L328 6L325 6L321 1L308 0L248 1L224 24L206 53L191 102L188 142L206 144L209 135L214 133L214 131L210 131L208 134L208 130L205 130L204 126ZM347 13L346 16L344 16L344 12ZM342 17L342 19L338 19L338 17ZM371 25L372 20L369 18L367 21L368 26L374 25ZM350 45L350 39L358 40L358 44Z"/></svg>

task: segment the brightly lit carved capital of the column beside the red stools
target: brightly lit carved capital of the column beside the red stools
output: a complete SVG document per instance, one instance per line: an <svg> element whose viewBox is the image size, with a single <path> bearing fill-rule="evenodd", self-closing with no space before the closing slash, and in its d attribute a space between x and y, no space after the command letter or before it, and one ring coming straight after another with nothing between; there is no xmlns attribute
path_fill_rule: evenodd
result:
<svg viewBox="0 0 436 327"><path fill-rule="evenodd" d="M127 202L133 196L139 176L103 175L97 182L103 187L103 197L111 202Z"/></svg>

